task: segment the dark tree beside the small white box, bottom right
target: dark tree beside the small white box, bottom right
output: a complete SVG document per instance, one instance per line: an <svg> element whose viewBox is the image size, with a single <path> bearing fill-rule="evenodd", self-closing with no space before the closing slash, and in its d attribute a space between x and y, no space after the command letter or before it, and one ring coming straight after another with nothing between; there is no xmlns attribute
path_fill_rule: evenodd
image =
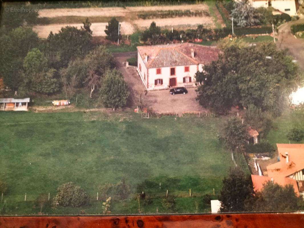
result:
<svg viewBox="0 0 304 228"><path fill-rule="evenodd" d="M244 212L246 202L253 196L250 176L246 176L239 167L230 168L228 176L223 180L223 187L219 195L221 212Z"/></svg>

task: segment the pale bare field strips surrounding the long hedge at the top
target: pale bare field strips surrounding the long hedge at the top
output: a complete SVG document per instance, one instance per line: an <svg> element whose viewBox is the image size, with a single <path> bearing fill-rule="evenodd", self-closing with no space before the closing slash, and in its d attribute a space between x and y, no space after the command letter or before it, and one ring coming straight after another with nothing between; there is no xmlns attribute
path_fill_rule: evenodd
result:
<svg viewBox="0 0 304 228"><path fill-rule="evenodd" d="M54 18L58 24L38 25L34 30L41 38L46 38L50 32L57 33L62 27L75 26L80 28L82 23L65 23L66 19L60 20L60 17L102 17L102 21L108 20L111 17L121 18L121 33L124 35L132 34L136 28L145 29L150 26L152 21L155 21L157 26L174 28L192 28L198 24L204 24L206 27L214 27L212 16L201 17L178 17L178 18L156 18L156 19L138 19L137 14L147 11L157 10L204 10L209 12L209 6L206 4L194 5L166 5L166 6L137 6L137 7L104 7L104 8L64 8L64 9L49 9L45 12L39 12L39 17ZM105 26L107 22L92 23L91 30L93 36L105 36Z"/></svg>

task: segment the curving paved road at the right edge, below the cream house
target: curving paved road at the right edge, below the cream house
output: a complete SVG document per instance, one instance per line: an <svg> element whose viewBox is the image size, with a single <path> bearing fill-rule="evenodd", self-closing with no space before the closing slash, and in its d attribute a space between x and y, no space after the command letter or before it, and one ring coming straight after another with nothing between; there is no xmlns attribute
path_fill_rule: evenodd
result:
<svg viewBox="0 0 304 228"><path fill-rule="evenodd" d="M293 24L304 23L304 19L288 22L279 27L277 45L281 49L288 48L302 70L304 70L304 39L297 39L293 36L290 26Z"/></svg>

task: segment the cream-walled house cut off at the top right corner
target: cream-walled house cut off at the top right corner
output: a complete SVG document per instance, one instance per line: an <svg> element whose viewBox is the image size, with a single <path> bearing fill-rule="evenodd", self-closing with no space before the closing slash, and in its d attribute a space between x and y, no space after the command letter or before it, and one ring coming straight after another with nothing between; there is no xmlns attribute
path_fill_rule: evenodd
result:
<svg viewBox="0 0 304 228"><path fill-rule="evenodd" d="M296 16L299 8L298 0L250 0L250 2L254 8L271 6L289 16Z"/></svg>

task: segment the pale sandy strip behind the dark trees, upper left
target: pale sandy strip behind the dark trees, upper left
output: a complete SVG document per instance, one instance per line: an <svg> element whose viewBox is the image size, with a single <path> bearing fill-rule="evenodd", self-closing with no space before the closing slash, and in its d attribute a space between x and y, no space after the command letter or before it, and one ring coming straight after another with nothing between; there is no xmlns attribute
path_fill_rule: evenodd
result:
<svg viewBox="0 0 304 228"><path fill-rule="evenodd" d="M92 36L105 36L105 26L108 23L92 23L91 30L93 31ZM41 38L47 38L52 31L58 33L62 27L74 26L80 29L83 24L50 24L50 25L37 25L33 27L33 30L38 33ZM134 27L128 22L121 22L121 33L124 35L130 35L134 33Z"/></svg>

